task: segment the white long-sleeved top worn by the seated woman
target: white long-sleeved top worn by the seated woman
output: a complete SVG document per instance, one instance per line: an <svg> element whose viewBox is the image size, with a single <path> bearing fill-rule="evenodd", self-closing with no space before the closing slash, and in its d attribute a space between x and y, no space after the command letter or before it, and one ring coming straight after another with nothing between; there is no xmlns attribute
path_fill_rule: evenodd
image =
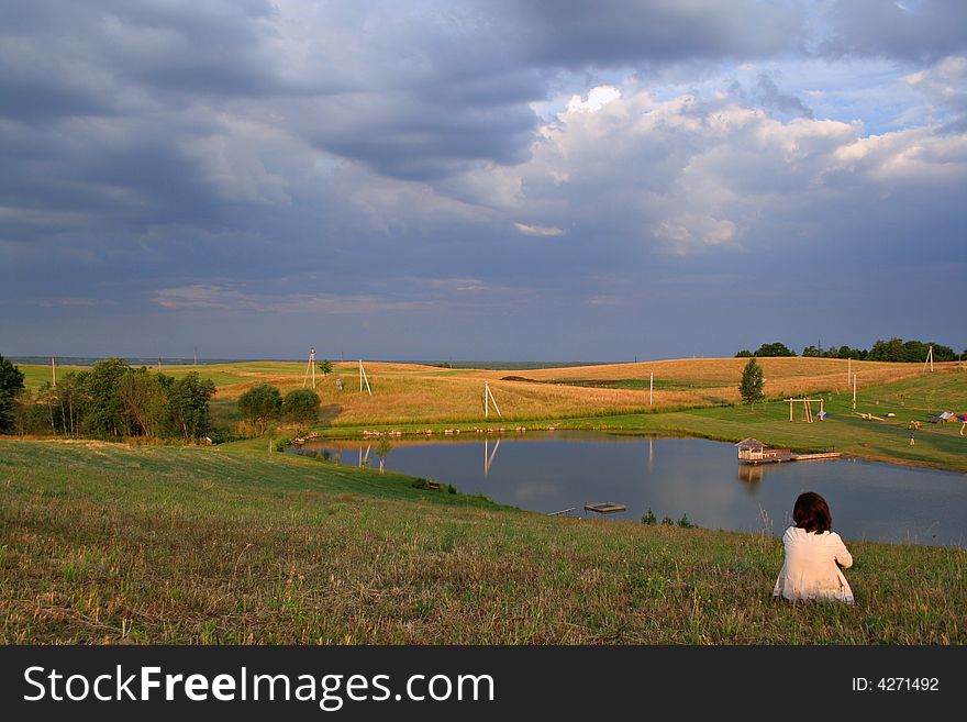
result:
<svg viewBox="0 0 967 722"><path fill-rule="evenodd" d="M790 526L782 534L786 562L776 579L774 597L794 601L829 599L853 603L853 590L836 566L853 566L853 556L835 532L815 534Z"/></svg>

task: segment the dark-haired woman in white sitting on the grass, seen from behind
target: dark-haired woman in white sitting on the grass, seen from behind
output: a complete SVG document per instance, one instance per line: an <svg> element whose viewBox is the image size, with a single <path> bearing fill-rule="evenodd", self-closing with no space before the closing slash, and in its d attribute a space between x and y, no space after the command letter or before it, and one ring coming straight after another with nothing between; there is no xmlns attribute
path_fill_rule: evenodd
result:
<svg viewBox="0 0 967 722"><path fill-rule="evenodd" d="M853 556L840 535L830 531L833 518L826 500L814 491L799 495L792 509L792 521L796 525L782 534L786 562L773 597L852 604L853 590L840 567L853 566Z"/></svg>

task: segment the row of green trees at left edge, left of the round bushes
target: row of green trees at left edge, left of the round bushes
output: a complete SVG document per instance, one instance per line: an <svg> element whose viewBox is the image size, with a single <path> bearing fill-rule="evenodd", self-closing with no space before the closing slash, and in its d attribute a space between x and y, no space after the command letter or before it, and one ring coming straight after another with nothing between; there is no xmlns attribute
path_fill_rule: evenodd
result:
<svg viewBox="0 0 967 722"><path fill-rule="evenodd" d="M69 371L56 385L47 381L31 392L23 374L0 356L0 431L190 442L211 430L214 392L214 382L197 371L176 379L121 358Z"/></svg>

